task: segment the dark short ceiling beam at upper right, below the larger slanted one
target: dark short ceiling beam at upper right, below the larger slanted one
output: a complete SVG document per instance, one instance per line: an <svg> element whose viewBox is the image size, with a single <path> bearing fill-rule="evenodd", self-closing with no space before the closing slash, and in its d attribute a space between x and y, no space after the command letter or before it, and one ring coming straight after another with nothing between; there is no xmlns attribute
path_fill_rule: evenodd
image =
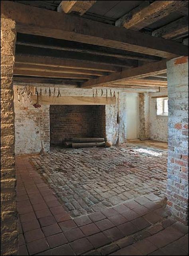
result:
<svg viewBox="0 0 189 256"><path fill-rule="evenodd" d="M188 32L188 16L175 20L152 32L152 36L159 36L166 39L175 38Z"/></svg>

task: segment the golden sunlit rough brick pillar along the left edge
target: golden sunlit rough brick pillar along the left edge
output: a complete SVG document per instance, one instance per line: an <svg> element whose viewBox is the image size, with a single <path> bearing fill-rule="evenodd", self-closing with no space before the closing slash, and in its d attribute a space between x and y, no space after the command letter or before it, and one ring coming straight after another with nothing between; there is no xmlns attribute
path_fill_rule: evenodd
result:
<svg viewBox="0 0 189 256"><path fill-rule="evenodd" d="M18 253L12 79L15 41L15 22L1 18L1 255Z"/></svg>

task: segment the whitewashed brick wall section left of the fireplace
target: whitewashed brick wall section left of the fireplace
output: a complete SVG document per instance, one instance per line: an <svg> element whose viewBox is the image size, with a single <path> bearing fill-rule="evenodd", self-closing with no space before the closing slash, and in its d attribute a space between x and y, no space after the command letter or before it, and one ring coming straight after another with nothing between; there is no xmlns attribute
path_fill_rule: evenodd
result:
<svg viewBox="0 0 189 256"><path fill-rule="evenodd" d="M23 87L14 86L15 109L15 153L16 155L39 153L43 148L49 151L49 105L40 108L30 104L27 95L19 98ZM19 102L20 101L20 102Z"/></svg>

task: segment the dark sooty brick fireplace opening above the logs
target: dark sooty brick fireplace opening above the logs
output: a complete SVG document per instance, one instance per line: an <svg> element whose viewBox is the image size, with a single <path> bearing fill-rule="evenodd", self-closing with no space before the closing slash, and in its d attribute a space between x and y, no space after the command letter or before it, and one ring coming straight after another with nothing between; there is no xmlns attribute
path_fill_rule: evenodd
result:
<svg viewBox="0 0 189 256"><path fill-rule="evenodd" d="M105 105L50 105L50 144L105 137Z"/></svg>

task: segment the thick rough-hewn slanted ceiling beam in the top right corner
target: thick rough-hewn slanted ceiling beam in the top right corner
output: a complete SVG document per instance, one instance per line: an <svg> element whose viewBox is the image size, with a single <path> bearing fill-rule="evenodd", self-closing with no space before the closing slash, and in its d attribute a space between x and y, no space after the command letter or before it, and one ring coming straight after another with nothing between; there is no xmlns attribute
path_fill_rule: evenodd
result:
<svg viewBox="0 0 189 256"><path fill-rule="evenodd" d="M146 1L148 2L148 1ZM116 21L116 26L124 26L138 31L148 25L160 20L172 12L179 11L187 6L188 1L154 1L146 6L139 6Z"/></svg>

